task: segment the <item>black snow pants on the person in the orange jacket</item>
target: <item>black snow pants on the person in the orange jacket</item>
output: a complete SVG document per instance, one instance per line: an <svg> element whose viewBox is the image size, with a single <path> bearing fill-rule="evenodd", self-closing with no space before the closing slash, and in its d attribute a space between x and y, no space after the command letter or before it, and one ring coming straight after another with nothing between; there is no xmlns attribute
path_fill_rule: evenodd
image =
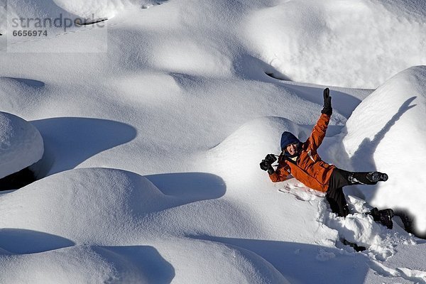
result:
<svg viewBox="0 0 426 284"><path fill-rule="evenodd" d="M371 182L366 178L368 172L348 172L335 168L329 180L329 188L325 198L330 204L332 212L340 217L346 217L349 214L348 204L343 193L343 187L346 185L376 185L377 182Z"/></svg>

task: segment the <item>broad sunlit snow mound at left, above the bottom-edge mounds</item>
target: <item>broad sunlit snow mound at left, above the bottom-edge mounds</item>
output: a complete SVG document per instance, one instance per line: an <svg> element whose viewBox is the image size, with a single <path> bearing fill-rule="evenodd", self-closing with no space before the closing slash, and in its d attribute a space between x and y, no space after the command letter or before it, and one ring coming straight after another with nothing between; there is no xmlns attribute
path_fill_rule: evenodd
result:
<svg viewBox="0 0 426 284"><path fill-rule="evenodd" d="M1 196L0 204L3 216L9 216L1 219L3 228L43 231L77 242L104 242L120 239L139 218L174 203L173 197L163 195L140 175L82 168Z"/></svg>

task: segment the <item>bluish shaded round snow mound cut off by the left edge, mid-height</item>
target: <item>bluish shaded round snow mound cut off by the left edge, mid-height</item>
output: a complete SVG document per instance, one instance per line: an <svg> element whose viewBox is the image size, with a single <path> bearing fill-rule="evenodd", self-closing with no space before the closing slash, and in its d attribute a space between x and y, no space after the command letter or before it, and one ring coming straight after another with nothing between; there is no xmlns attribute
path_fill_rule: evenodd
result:
<svg viewBox="0 0 426 284"><path fill-rule="evenodd" d="M43 138L35 126L0 111L0 178L33 165L43 152Z"/></svg>

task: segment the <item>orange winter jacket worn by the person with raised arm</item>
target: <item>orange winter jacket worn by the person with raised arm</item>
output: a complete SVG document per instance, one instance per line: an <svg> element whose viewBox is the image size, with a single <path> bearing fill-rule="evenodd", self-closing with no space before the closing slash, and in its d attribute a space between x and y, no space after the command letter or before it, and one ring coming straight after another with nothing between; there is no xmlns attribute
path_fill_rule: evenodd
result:
<svg viewBox="0 0 426 284"><path fill-rule="evenodd" d="M322 161L320 155L317 154L317 149L325 137L329 121L329 115L321 114L310 137L302 144L296 161L290 160L284 155L284 152L280 154L278 168L275 173L269 175L273 182L282 182L291 174L307 187L321 192L327 191L330 176L336 167Z"/></svg>

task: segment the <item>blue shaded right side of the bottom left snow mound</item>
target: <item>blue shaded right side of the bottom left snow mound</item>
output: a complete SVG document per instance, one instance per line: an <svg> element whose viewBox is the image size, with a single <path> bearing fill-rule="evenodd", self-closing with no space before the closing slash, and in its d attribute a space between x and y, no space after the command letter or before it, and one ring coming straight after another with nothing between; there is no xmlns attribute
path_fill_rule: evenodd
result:
<svg viewBox="0 0 426 284"><path fill-rule="evenodd" d="M102 246L94 249L114 264L118 275L127 273L124 259L138 268L146 283L168 284L175 278L175 268L153 246Z"/></svg>

